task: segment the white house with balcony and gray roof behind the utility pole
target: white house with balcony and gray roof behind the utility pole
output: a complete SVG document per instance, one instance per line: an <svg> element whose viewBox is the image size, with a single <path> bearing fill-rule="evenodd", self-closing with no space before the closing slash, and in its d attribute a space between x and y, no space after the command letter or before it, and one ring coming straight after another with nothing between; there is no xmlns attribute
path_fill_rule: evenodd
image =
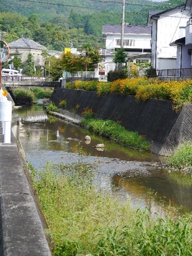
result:
<svg viewBox="0 0 192 256"><path fill-rule="evenodd" d="M103 25L106 48L103 49L104 61L112 61L115 50L121 48L121 25ZM151 26L124 26L124 49L134 62L140 59L151 61Z"/></svg>

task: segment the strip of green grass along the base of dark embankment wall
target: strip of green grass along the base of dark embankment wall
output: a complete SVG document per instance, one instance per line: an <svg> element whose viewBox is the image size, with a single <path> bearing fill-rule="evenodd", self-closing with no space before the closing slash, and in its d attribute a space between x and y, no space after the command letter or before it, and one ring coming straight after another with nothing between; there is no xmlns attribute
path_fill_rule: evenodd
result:
<svg viewBox="0 0 192 256"><path fill-rule="evenodd" d="M145 136L139 135L137 132L130 132L115 121L84 118L81 124L86 127L86 129L116 140L127 147L149 150L149 144L145 140Z"/></svg>

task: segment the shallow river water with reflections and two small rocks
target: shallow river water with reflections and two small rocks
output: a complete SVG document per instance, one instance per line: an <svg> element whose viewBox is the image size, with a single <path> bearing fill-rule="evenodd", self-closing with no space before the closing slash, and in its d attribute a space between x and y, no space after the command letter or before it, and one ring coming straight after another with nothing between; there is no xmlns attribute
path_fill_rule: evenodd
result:
<svg viewBox="0 0 192 256"><path fill-rule="evenodd" d="M167 206L181 212L192 210L192 180L187 174L161 166L162 157L133 150L94 135L86 129L46 115L41 105L14 110L21 120L20 141L28 162L41 169L54 163L86 162L95 165L98 189L115 193L119 200L130 198L134 207L153 212ZM85 136L91 136L91 142ZM95 145L104 144L104 150Z"/></svg>

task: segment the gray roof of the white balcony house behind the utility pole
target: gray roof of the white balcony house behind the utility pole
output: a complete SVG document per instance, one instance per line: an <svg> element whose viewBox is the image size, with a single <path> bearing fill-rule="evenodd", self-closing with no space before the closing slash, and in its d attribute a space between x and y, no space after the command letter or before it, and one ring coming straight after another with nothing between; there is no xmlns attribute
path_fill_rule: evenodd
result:
<svg viewBox="0 0 192 256"><path fill-rule="evenodd" d="M121 34L121 25L103 25L102 34L116 33ZM151 35L151 26L124 26L124 34L149 34Z"/></svg>

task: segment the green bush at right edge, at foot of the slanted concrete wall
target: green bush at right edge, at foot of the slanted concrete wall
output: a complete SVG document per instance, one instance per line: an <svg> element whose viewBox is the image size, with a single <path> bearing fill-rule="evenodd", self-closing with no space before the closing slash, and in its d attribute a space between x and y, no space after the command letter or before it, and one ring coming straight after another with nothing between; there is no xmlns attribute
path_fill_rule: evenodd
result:
<svg viewBox="0 0 192 256"><path fill-rule="evenodd" d="M192 171L192 143L182 144L167 160L167 164L176 169Z"/></svg>

